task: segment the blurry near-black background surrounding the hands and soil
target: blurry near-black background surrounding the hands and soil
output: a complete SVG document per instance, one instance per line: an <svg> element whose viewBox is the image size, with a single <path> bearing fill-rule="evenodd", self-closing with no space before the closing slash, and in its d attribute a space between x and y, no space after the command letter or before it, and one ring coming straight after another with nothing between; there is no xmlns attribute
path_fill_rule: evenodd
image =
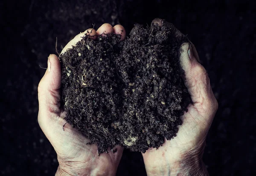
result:
<svg viewBox="0 0 256 176"><path fill-rule="evenodd" d="M212 176L256 175L256 4L253 0L9 0L0 2L0 175L54 175L56 154L38 122L37 86L47 57L102 23L146 26L160 17L195 44L219 109L204 162ZM125 150L118 176L145 176L140 153Z"/></svg>

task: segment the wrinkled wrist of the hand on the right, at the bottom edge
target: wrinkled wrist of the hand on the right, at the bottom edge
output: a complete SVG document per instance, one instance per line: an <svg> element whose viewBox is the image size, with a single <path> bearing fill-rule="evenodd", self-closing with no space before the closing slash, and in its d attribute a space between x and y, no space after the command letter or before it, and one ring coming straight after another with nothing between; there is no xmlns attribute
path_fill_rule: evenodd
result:
<svg viewBox="0 0 256 176"><path fill-rule="evenodd" d="M208 176L207 168L202 161L205 142L200 142L190 150L172 150L163 153L155 161L147 162L145 165L148 176L168 175L168 176ZM146 159L146 158L144 158ZM144 160L145 162L145 160Z"/></svg>

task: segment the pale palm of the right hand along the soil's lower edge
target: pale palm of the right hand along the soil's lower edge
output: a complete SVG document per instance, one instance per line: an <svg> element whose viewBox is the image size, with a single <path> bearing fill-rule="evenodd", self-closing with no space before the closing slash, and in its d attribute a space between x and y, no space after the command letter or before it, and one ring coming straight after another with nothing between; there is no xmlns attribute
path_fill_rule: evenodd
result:
<svg viewBox="0 0 256 176"><path fill-rule="evenodd" d="M200 117L200 111L197 108L197 105L189 105L188 112L186 112L181 119L183 121L182 125L179 126L177 136L171 140L166 140L160 148L147 150L143 154L144 159L151 160L163 160L163 155L168 155L168 157L177 159L182 156L186 151L189 151L193 148L196 148L198 144L201 144L204 140L201 136L204 136L203 133L206 133L206 129L202 131L200 128L204 126L197 119ZM163 155L162 155L162 154Z"/></svg>

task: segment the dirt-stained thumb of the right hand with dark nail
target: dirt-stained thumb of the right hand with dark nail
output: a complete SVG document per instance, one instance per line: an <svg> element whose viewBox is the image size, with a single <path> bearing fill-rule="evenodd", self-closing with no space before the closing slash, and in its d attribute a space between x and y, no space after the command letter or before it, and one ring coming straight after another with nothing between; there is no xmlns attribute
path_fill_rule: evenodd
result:
<svg viewBox="0 0 256 176"><path fill-rule="evenodd" d="M196 103L203 109L215 108L213 107L215 105L212 103L215 104L216 99L212 92L207 71L196 60L194 53L195 51L190 43L183 43L181 45L180 66L185 74L183 78L184 83L194 104Z"/></svg>

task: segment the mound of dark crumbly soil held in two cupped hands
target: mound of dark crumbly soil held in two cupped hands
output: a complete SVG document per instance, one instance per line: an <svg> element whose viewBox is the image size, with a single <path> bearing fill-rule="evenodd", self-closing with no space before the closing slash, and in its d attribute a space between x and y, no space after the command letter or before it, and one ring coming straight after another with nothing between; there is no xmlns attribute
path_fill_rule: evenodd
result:
<svg viewBox="0 0 256 176"><path fill-rule="evenodd" d="M119 39L84 36L61 54L65 119L99 153L115 145L145 153L176 136L191 103L178 53L188 39L166 21L136 25L128 39Z"/></svg>

